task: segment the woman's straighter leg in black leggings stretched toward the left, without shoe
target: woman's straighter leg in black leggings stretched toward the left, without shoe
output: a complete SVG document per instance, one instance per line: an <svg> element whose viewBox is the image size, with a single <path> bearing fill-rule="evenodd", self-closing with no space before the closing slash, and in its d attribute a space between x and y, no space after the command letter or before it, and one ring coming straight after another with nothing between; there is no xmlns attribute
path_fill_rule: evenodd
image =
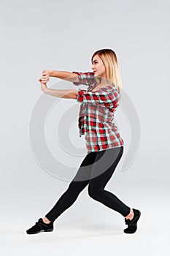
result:
<svg viewBox="0 0 170 256"><path fill-rule="evenodd" d="M72 206L72 204L77 199L80 192L85 189L89 183L90 173L93 167L93 162L95 161L95 152L87 154L85 159L83 159L76 176L72 179L66 192L61 195L55 206L45 215L47 219L54 222L63 211Z"/></svg>

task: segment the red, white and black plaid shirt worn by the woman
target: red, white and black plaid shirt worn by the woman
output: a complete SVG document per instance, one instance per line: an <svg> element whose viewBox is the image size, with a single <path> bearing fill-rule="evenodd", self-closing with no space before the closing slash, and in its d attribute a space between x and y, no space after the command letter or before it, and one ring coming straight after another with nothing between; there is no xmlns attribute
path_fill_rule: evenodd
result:
<svg viewBox="0 0 170 256"><path fill-rule="evenodd" d="M88 86L88 90L78 89L77 95L77 102L82 103L78 127L80 137L85 135L88 153L123 146L124 141L113 122L120 93L112 84L92 91L97 86L93 72L72 73L77 74L80 79L80 82L73 82L75 86Z"/></svg>

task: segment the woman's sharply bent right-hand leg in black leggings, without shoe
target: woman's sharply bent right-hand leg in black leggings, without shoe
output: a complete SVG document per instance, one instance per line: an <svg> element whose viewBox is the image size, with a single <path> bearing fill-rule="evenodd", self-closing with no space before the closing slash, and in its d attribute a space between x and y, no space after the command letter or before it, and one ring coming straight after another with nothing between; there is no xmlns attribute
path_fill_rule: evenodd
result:
<svg viewBox="0 0 170 256"><path fill-rule="evenodd" d="M131 208L126 206L116 195L104 190L122 155L123 146L98 151L93 165L92 177L89 181L88 193L94 200L103 203L125 217L129 214Z"/></svg>

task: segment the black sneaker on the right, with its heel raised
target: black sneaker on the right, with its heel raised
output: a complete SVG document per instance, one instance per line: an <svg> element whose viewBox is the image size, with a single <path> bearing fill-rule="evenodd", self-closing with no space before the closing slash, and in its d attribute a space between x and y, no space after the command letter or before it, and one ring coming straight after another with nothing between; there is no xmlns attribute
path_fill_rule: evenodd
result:
<svg viewBox="0 0 170 256"><path fill-rule="evenodd" d="M137 222L141 216L141 212L139 210L136 210L133 208L134 211L134 218L133 219L125 219L125 224L128 225L125 230L123 230L125 233L135 233L137 230Z"/></svg>

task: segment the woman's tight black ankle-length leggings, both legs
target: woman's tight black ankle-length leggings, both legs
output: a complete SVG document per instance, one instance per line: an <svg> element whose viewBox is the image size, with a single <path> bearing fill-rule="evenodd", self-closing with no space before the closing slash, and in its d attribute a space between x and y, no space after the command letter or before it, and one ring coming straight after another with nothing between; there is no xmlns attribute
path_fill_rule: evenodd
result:
<svg viewBox="0 0 170 256"><path fill-rule="evenodd" d="M122 155L123 146L88 153L66 192L61 195L55 206L45 217L54 222L63 211L72 206L80 192L87 185L90 197L126 217L130 213L131 208L126 206L111 192L104 190Z"/></svg>

